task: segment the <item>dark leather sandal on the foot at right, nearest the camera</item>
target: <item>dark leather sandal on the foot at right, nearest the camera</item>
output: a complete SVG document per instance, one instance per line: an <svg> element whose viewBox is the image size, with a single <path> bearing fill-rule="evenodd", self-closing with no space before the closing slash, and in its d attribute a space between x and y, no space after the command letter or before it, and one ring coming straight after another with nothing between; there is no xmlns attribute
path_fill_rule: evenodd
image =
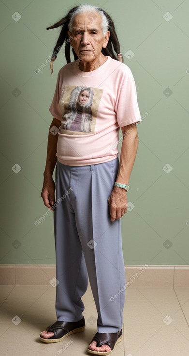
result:
<svg viewBox="0 0 189 356"><path fill-rule="evenodd" d="M123 334L122 329L119 330L117 333L96 333L94 338L92 339L92 341L97 342L96 347L101 347L102 345L106 344L111 348L112 351L107 351L107 352L106 351L104 351L104 352L93 351L93 350L90 350L89 348L87 349L87 351L90 354L95 354L95 355L109 355L113 352L116 344L121 341L122 334ZM90 342L90 344L91 344L91 342Z"/></svg>

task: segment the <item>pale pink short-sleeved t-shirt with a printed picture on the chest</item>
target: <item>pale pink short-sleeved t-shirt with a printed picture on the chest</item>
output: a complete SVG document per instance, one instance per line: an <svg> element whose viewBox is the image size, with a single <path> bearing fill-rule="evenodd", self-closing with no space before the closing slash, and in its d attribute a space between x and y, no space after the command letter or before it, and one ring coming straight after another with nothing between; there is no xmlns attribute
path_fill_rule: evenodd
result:
<svg viewBox="0 0 189 356"><path fill-rule="evenodd" d="M73 166L115 159L119 129L142 121L135 81L127 65L107 56L99 68L84 72L79 61L59 70L49 108L60 120L58 161Z"/></svg>

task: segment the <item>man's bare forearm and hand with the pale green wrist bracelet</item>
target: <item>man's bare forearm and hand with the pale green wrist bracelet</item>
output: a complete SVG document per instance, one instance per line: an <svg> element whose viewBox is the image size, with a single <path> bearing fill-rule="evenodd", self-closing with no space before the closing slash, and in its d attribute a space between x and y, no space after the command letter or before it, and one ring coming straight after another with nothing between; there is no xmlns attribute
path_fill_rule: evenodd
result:
<svg viewBox="0 0 189 356"><path fill-rule="evenodd" d="M131 171L138 149L137 126L127 125L121 128L123 141L121 146L119 169L116 182L129 185ZM120 219L127 212L127 192L124 188L114 187L108 199L111 221Z"/></svg>

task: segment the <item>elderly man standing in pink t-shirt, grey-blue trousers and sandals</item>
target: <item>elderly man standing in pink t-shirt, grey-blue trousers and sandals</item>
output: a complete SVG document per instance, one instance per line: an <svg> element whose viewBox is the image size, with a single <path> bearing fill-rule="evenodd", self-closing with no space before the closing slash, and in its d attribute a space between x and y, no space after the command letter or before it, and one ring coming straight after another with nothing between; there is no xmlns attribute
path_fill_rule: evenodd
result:
<svg viewBox="0 0 189 356"><path fill-rule="evenodd" d="M69 37L75 61L59 70L49 109L54 118L41 196L54 211L57 321L40 334L40 340L58 342L85 329L81 298L89 277L98 332L87 351L106 355L122 338L121 217L128 207L129 179L139 142L136 123L141 116L131 70L119 61L122 55L111 17L94 5L82 4L51 28L60 24L64 26L57 44ZM67 120L71 120L69 125ZM90 130L82 125L86 120L90 120ZM51 133L55 127L58 135Z"/></svg>

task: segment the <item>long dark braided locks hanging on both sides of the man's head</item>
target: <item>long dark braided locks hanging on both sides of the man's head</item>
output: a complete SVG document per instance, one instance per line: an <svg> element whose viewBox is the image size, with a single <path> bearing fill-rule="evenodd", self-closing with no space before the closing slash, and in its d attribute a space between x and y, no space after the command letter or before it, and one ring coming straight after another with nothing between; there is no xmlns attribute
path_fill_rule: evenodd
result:
<svg viewBox="0 0 189 356"><path fill-rule="evenodd" d="M50 30L50 29L55 29L55 28L63 25L62 29L60 31L56 46L53 49L53 54L51 56L51 64L50 64L51 74L53 74L53 62L56 60L57 54L62 46L65 47L64 51L65 51L65 57L66 57L67 63L71 62L71 59L70 59L70 38L68 37L67 32L69 31L68 26L69 26L72 16L80 6L81 5L73 7L73 9L71 9L69 11L69 13L65 17L63 17L60 21L55 23L53 26L49 26L46 28L47 30ZM116 59L117 61L123 62L123 56L120 53L120 45L119 45L119 41L117 38L114 21L100 7L97 7L97 10L102 11L103 14L106 16L106 19L108 20L108 30L107 31L110 31L110 37L109 37L108 44L107 44L106 48L102 48L102 54L105 56L110 56L113 59ZM73 48L72 48L72 51L73 51L74 61L76 61L78 59L78 56L75 53ZM116 53L116 55L115 55L115 53Z"/></svg>

